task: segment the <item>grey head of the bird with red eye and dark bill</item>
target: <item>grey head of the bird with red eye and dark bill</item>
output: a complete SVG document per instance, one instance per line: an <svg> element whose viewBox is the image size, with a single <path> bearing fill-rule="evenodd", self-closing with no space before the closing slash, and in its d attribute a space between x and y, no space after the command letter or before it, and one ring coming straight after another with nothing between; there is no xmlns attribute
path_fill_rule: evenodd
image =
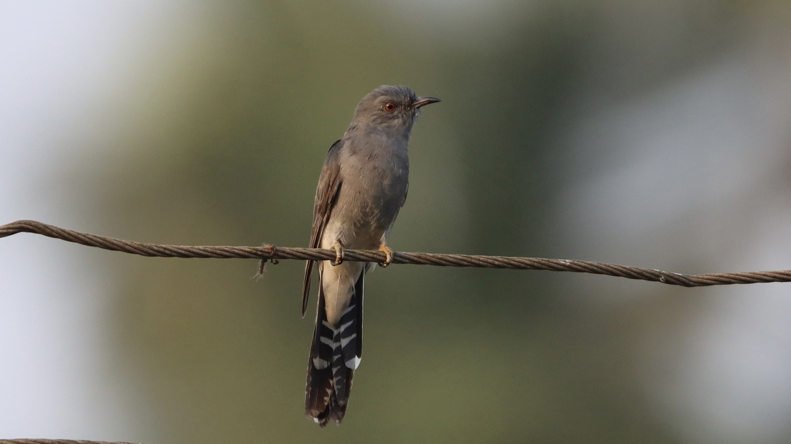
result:
<svg viewBox="0 0 791 444"><path fill-rule="evenodd" d="M377 129L380 131L412 131L420 108L440 101L436 97L418 97L407 86L382 85L362 98L354 109L349 131Z"/></svg>

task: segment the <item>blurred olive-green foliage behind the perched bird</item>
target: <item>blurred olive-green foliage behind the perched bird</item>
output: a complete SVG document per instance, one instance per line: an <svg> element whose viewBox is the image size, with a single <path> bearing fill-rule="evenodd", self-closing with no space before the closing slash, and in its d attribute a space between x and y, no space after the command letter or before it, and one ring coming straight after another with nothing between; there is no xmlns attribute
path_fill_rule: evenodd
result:
<svg viewBox="0 0 791 444"><path fill-rule="evenodd" d="M567 98L613 101L694 69L729 45L744 6L665 2L668 13L640 17L630 2L502 4L503 17L456 28L412 17L407 2L218 2L193 44L145 67L115 150L84 172L101 232L306 245L326 150L365 93L403 84L443 102L415 128L393 248L573 256L544 225ZM647 36L623 38L642 33L615 28L613 10ZM299 316L303 264L254 280L252 260L111 260L119 368L160 442L672 442L632 374L652 302L570 302L595 296L589 277L377 270L349 412L320 430L303 415L314 316Z"/></svg>

